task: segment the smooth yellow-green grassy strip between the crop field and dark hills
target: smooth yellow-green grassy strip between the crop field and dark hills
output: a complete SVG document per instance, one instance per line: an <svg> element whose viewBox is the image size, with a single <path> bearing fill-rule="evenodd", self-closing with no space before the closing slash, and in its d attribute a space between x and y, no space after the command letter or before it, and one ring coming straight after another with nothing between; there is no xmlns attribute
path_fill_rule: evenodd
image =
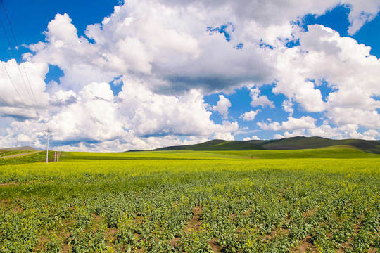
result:
<svg viewBox="0 0 380 253"><path fill-rule="evenodd" d="M26 164L44 162L46 152L31 155L0 158L0 165ZM89 160L250 160L250 159L292 159L292 158L380 158L380 155L366 153L349 146L333 146L308 150L171 150L171 151L142 151L133 153L84 153L64 152L60 162L89 162ZM53 153L49 154L49 160Z"/></svg>

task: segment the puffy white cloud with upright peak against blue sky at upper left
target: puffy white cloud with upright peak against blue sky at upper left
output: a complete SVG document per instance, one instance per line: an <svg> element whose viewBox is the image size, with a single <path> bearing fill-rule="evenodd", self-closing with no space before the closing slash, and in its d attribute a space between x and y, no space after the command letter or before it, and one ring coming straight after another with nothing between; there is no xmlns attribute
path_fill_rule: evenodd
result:
<svg viewBox="0 0 380 253"><path fill-rule="evenodd" d="M64 89L80 91L91 82L110 82L118 75L116 70L122 71L113 65L127 64L78 37L71 21L68 14L57 14L45 32L46 42L30 45L34 56L28 56L27 60L58 66L64 73L60 79Z"/></svg>

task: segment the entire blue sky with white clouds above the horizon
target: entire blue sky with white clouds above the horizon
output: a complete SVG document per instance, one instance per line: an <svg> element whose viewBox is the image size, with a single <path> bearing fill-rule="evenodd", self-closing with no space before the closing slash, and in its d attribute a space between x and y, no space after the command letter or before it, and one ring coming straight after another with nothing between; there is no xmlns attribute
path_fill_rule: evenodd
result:
<svg viewBox="0 0 380 253"><path fill-rule="evenodd" d="M380 139L380 0L2 4L0 148Z"/></svg>

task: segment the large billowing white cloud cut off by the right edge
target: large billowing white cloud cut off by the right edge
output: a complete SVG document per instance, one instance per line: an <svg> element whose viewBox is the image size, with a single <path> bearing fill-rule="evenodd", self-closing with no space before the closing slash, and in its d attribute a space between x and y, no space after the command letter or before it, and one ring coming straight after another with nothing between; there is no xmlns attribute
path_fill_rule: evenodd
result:
<svg viewBox="0 0 380 253"><path fill-rule="evenodd" d="M298 35L300 46L277 55L274 93L283 93L306 112L326 112L338 126L379 129L380 101L374 97L380 95L380 60L369 54L370 48L321 25L310 25ZM324 99L322 86L331 89Z"/></svg>

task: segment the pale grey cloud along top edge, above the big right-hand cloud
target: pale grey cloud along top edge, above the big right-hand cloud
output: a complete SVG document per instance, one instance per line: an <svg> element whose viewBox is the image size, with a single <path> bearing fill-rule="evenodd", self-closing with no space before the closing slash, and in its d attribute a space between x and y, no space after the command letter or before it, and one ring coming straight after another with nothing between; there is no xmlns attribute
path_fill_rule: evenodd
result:
<svg viewBox="0 0 380 253"><path fill-rule="evenodd" d="M178 4L174 0L165 0L164 2L170 5ZM276 0L186 1L187 6L198 5L204 10L203 13L227 13L228 11L229 15L236 20L255 20L263 27L281 25L284 22L289 22L289 20L298 20L298 18L308 13L322 15L339 4L350 6L349 21L353 27L351 28L353 32L359 29L364 22L371 20L372 16L376 15L380 6L379 0L283 0L281 2Z"/></svg>

